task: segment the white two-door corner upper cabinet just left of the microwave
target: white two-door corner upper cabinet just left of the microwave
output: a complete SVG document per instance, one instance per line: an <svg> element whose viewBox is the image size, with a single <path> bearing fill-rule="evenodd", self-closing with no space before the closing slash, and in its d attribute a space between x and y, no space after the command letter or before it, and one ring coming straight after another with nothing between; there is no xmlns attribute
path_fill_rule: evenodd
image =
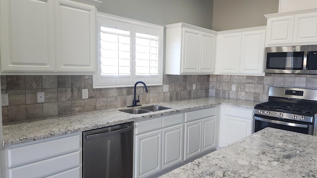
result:
<svg viewBox="0 0 317 178"><path fill-rule="evenodd" d="M265 28L218 32L215 73L263 76Z"/></svg>

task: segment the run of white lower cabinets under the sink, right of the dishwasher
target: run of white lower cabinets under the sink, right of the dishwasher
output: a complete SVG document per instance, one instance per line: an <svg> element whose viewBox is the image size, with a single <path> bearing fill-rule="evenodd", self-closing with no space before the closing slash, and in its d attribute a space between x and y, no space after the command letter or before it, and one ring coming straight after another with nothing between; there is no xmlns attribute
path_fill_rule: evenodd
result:
<svg viewBox="0 0 317 178"><path fill-rule="evenodd" d="M136 122L134 177L162 174L215 149L218 108Z"/></svg>

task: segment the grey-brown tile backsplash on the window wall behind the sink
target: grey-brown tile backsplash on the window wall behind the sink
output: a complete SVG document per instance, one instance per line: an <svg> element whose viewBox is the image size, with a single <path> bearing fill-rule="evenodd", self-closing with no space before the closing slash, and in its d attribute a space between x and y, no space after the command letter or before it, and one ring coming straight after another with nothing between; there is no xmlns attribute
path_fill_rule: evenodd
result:
<svg viewBox="0 0 317 178"><path fill-rule="evenodd" d="M9 105L2 106L4 123L129 106L133 100L133 87L93 89L92 76L1 76L0 81L1 93L8 93L9 98ZM88 99L82 99L82 89L88 89ZM140 104L205 97L210 75L163 75L163 85L148 86L148 90L137 87ZM45 92L44 103L37 103L39 91Z"/></svg>

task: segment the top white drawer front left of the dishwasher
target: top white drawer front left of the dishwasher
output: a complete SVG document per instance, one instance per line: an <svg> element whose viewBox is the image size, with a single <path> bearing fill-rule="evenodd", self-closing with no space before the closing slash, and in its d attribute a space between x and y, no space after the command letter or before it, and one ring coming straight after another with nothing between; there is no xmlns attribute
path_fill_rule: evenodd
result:
<svg viewBox="0 0 317 178"><path fill-rule="evenodd" d="M79 150L81 134L8 149L9 168Z"/></svg>

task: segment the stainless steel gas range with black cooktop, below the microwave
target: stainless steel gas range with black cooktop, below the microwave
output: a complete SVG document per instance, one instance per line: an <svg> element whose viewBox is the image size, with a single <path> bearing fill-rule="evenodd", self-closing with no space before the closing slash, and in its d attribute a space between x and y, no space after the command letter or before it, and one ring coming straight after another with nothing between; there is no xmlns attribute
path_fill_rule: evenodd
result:
<svg viewBox="0 0 317 178"><path fill-rule="evenodd" d="M254 132L266 127L314 135L317 90L270 87L268 102L254 107Z"/></svg>

